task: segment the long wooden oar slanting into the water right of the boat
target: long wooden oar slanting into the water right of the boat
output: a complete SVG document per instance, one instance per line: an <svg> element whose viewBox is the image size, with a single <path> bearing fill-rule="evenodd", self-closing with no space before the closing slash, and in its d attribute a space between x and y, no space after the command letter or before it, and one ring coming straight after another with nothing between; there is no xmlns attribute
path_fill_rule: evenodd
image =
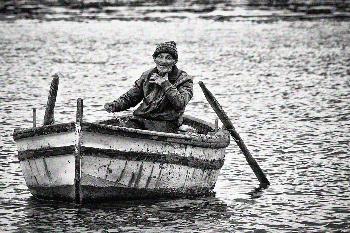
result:
<svg viewBox="0 0 350 233"><path fill-rule="evenodd" d="M255 176L257 176L258 180L261 184L269 184L270 182L266 178L264 172L260 169L257 161L253 158L253 156L250 154L248 148L245 146L243 140L239 136L239 134L236 132L235 127L233 127L231 120L227 116L227 114L224 112L218 101L215 99L212 93L205 87L204 83L202 81L198 82L198 84L201 86L205 98L208 100L210 106L214 109L215 113L218 115L219 119L229 130L231 133L233 139L235 139L238 147L241 149L242 153L244 154L245 159L247 160L248 164L252 168Z"/></svg>

